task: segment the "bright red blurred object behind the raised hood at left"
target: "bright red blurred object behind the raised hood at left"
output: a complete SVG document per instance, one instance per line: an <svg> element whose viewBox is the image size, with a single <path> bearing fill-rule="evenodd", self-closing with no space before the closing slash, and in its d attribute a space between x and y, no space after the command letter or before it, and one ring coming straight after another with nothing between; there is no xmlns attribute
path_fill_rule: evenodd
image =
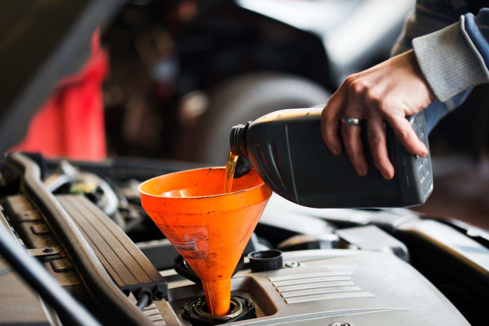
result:
<svg viewBox="0 0 489 326"><path fill-rule="evenodd" d="M109 70L100 31L91 40L88 62L58 84L32 118L22 142L9 150L40 152L45 157L102 160L107 157L102 82Z"/></svg>

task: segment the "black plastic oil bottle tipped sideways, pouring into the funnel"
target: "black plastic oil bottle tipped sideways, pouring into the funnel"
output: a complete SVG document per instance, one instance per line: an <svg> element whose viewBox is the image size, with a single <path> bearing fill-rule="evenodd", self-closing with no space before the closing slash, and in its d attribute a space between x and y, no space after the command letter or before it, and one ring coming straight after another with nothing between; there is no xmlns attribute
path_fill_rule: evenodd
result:
<svg viewBox="0 0 489 326"><path fill-rule="evenodd" d="M410 207L423 204L433 191L430 154L412 155L387 126L387 150L395 175L385 180L375 168L367 141L362 142L369 171L356 174L345 150L333 155L321 137L320 108L268 113L232 128L231 151L248 156L275 193L315 208ZM422 112L406 117L428 148Z"/></svg>

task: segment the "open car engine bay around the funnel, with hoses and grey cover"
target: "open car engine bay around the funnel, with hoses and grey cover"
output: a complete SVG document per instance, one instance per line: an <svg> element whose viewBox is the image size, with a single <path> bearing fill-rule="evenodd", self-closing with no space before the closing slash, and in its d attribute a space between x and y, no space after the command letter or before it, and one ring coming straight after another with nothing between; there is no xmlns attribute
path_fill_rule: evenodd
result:
<svg viewBox="0 0 489 326"><path fill-rule="evenodd" d="M134 180L197 164L40 163L21 153L5 159L2 225L102 325L222 323L182 317L203 296L202 286L181 271L168 239L146 227L152 221L130 191ZM59 169L67 164L83 173L66 178ZM93 175L81 186L87 174L111 177L115 196L127 195L123 204L118 199L118 217L107 214L108 188L87 187ZM52 175L60 183L53 193L46 186ZM253 304L256 318L233 323L485 325L488 239L482 229L407 209L314 209L273 195L231 281L231 295L244 298L236 306ZM283 251L280 268L252 272L247 254L273 248ZM75 325L32 291L21 270L4 260L2 267L0 325ZM149 300L139 309L141 298Z"/></svg>

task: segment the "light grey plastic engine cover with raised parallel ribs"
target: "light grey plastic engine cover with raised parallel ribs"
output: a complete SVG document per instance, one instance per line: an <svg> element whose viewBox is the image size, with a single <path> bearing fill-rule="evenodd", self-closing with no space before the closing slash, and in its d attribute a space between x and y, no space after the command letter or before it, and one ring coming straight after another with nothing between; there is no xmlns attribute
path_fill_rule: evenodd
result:
<svg viewBox="0 0 489 326"><path fill-rule="evenodd" d="M258 316L236 325L469 325L419 272L391 254L333 249L283 256L284 265L298 267L243 270L233 278L231 295L249 296ZM177 312L203 294L196 285L180 284L169 283ZM179 324L190 325L181 319Z"/></svg>

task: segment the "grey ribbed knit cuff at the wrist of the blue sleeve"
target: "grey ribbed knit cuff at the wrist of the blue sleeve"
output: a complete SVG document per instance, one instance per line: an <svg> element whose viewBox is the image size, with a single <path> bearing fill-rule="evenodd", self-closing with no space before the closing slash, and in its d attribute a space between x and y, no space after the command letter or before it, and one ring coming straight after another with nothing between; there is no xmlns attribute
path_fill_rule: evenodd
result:
<svg viewBox="0 0 489 326"><path fill-rule="evenodd" d="M464 16L439 31L413 40L421 71L440 102L489 82L489 72L464 30Z"/></svg>

